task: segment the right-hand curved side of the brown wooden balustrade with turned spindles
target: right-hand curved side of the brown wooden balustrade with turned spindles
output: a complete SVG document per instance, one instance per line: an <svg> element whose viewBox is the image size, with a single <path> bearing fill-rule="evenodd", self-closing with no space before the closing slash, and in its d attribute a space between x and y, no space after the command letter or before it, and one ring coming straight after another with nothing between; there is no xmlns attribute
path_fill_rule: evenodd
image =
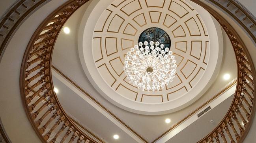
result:
<svg viewBox="0 0 256 143"><path fill-rule="evenodd" d="M217 127L198 143L241 143L248 132L254 114L255 69L245 44L232 26L213 9L202 2L192 0L207 9L220 23L228 35L237 61L237 88L232 105ZM231 3L227 4L227 7Z"/></svg>

